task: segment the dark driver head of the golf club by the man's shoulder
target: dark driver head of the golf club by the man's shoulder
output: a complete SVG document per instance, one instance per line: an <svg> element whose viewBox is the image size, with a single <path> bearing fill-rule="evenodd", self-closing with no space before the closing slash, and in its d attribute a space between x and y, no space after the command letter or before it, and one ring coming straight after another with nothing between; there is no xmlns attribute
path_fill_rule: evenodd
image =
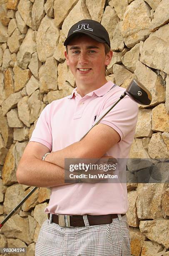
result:
<svg viewBox="0 0 169 256"><path fill-rule="evenodd" d="M141 105L149 105L152 101L152 95L147 88L137 79L133 79L125 93Z"/></svg>

